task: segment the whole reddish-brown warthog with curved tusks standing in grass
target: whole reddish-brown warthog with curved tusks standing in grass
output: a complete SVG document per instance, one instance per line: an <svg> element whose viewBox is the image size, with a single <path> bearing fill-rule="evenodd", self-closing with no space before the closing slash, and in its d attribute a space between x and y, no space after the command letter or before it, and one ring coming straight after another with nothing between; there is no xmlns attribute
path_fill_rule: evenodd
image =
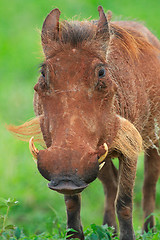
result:
<svg viewBox="0 0 160 240"><path fill-rule="evenodd" d="M73 238L84 239L80 193L98 177L103 224L117 231L116 210L120 239L132 240L139 152L145 150L144 219L154 211L160 171L160 42L141 24L111 22L110 12L98 11L98 21L60 23L59 9L49 13L41 34L45 60L34 87L36 118L9 129L23 140L31 137L39 172L50 189L64 194ZM144 221L145 231L148 224L154 226L153 216Z"/></svg>

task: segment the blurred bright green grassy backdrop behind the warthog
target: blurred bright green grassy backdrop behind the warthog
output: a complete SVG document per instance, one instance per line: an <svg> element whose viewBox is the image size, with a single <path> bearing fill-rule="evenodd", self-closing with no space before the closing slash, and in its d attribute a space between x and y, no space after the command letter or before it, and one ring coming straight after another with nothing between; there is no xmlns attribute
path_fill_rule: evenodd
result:
<svg viewBox="0 0 160 240"><path fill-rule="evenodd" d="M48 12L58 7L61 19L78 16L98 18L97 6L112 10L113 19L130 19L145 24L160 38L159 0L1 0L0 2L0 196L14 197L19 205L10 221L26 233L41 232L54 216L51 208L65 219L63 196L49 190L38 173L28 150L7 132L5 123L21 124L34 116L33 86L38 65L43 60L39 29ZM139 159L135 186L134 225L142 224L141 193L143 159ZM157 211L160 208L160 182L157 185ZM82 221L101 224L103 189L95 181L82 194Z"/></svg>

